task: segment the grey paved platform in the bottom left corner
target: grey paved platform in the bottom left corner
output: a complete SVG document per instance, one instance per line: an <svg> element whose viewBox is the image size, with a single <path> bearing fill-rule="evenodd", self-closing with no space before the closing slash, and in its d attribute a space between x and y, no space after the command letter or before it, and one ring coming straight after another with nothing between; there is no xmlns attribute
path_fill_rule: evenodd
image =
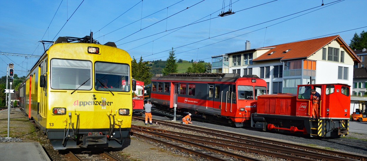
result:
<svg viewBox="0 0 367 161"><path fill-rule="evenodd" d="M51 161L38 142L0 143L0 161Z"/></svg>

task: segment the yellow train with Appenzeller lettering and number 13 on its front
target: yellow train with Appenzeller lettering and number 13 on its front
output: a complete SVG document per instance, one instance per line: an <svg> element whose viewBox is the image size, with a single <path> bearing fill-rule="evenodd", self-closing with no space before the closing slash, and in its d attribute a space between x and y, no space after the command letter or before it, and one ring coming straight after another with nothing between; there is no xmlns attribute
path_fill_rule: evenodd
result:
<svg viewBox="0 0 367 161"><path fill-rule="evenodd" d="M19 87L21 108L55 150L122 147L136 88L130 55L92 33L52 43Z"/></svg>

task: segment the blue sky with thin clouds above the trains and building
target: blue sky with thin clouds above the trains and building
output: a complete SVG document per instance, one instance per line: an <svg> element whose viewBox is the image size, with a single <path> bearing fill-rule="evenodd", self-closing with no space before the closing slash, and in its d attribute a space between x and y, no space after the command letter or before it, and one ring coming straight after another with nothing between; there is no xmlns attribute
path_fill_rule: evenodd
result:
<svg viewBox="0 0 367 161"><path fill-rule="evenodd" d="M324 5L321 6L321 4ZM347 43L367 31L367 0L0 0L0 52L42 55L40 40L94 34L131 57L166 60L211 56L316 37ZM190 25L191 24L191 25ZM1 54L0 53L0 54ZM0 55L0 76L14 63L26 75L37 57Z"/></svg>

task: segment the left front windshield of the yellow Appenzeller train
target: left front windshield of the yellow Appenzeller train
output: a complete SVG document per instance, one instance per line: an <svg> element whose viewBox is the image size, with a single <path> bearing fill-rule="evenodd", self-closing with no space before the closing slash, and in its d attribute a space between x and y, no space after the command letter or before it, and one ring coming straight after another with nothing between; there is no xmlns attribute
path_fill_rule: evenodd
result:
<svg viewBox="0 0 367 161"><path fill-rule="evenodd" d="M91 90L92 63L85 60L51 60L51 88Z"/></svg>

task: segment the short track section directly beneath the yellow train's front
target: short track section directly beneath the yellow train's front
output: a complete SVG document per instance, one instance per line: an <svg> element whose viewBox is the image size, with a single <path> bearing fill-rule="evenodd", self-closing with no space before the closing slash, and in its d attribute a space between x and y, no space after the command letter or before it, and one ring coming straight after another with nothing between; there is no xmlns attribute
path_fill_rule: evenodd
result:
<svg viewBox="0 0 367 161"><path fill-rule="evenodd" d="M73 152L69 151L68 154L65 155L66 160L68 161L121 161L115 156L112 156L110 153L106 151L101 152L92 152L92 151L83 151L83 152Z"/></svg>

